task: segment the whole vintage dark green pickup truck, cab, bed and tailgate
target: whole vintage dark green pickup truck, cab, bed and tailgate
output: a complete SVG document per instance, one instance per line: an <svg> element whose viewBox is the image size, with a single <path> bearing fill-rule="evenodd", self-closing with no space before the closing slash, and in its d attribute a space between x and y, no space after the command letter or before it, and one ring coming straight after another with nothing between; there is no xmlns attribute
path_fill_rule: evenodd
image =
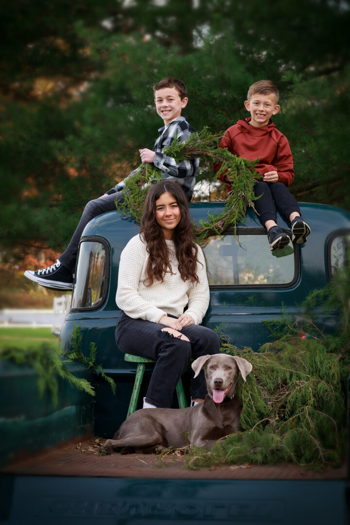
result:
<svg viewBox="0 0 350 525"><path fill-rule="evenodd" d="M206 219L208 212L221 213L223 207L224 203L219 202L192 203L190 211L198 224L200 219ZM333 272L346 264L350 214L333 206L307 203L301 204L301 212L312 230L303 245L290 244L283 250L271 252L266 230L249 209L247 223L239 225L236 236L234 230L228 229L222 235L209 238L204 247L210 304L203 324L219 328L230 343L239 348L251 346L257 351L270 337L263 320L279 318L282 305L284 311L298 315L307 294L324 287ZM289 230L290 225L281 216L278 223ZM65 350L69 349L75 325L79 325L82 334L84 355L89 354L90 343L96 343L96 362L113 377L116 394L112 394L109 385L99 375L74 364L73 372L86 377L96 387L96 398L92 401L88 395L60 382L59 403L54 407L47 398L38 399L33 370L1 363L3 463L18 457L19 453L37 453L84 434L111 437L124 421L135 365L124 361L124 354L115 344L114 328L119 314L115 292L121 251L138 232L135 222L117 211L103 214L87 225L80 242L71 309L60 333ZM320 313L319 321L325 331L334 329L332 317L322 318ZM175 523L177 519L192 524L221 521L294 525L295 516L301 523L347 523L349 517L346 503L348 474L338 480L260 479L239 482L213 481L206 479L205 474L201 480L112 480L98 477L26 478L11 475L10 469L6 472L0 478L2 495L5 496L0 507L3 512L3 521L0 522L9 525L17 522L80 524L90 523L93 519L96 523L135 525L141 521ZM40 496L42 490L43 497ZM151 494L161 496L160 505L162 501L165 505L166 501L169 509L188 508L188 512L161 512L160 507L158 511L155 507L154 511L145 511L144 514L132 510L145 506ZM195 495L195 499L191 500L190 495ZM90 513L77 510L75 513L69 510L74 507L75 498L85 502L93 500L101 509L104 502L109 501L110 510L104 513L102 510ZM121 500L132 503L129 513L111 510L113 505L114 509L120 509ZM235 511L228 510L227 501ZM211 511L205 514L200 509L209 502ZM262 510L267 504L269 512ZM18 510L22 505L23 512ZM296 507L299 510L295 510Z"/></svg>

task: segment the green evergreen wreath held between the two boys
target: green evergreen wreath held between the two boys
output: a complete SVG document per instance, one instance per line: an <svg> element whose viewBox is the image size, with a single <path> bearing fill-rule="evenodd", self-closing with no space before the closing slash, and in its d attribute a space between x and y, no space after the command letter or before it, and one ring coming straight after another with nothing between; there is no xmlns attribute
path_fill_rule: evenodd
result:
<svg viewBox="0 0 350 525"><path fill-rule="evenodd" d="M192 133L186 142L179 142L175 138L171 145L164 148L164 153L177 162L199 157L211 163L219 163L221 167L217 177L227 172L233 181L232 190L222 213L220 215L208 213L207 220L200 220L199 226L194 225L199 244L203 244L212 235L224 232L228 227L234 228L236 233L238 223L246 223L247 206L254 208L256 200L254 182L261 178L261 175L254 170L257 161L242 159L226 149L218 148L220 138L221 135L214 135L208 128L204 128L199 134ZM122 204L116 202L119 211L140 222L147 185L155 180L162 180L161 171L148 163L142 164L138 172L125 181L125 201Z"/></svg>

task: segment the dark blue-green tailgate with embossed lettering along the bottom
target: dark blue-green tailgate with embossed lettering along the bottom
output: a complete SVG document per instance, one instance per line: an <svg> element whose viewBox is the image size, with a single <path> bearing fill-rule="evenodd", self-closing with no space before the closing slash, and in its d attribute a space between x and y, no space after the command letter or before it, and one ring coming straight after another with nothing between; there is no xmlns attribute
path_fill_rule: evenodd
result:
<svg viewBox="0 0 350 525"><path fill-rule="evenodd" d="M347 480L2 476L4 525L347 525Z"/></svg>

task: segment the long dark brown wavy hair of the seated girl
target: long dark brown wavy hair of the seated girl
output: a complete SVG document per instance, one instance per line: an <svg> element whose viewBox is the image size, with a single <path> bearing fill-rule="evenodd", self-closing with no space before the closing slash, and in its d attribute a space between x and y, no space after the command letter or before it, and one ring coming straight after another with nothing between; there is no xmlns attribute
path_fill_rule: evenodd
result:
<svg viewBox="0 0 350 525"><path fill-rule="evenodd" d="M173 273L169 250L166 245L162 228L156 222L155 202L163 193L170 193L176 199L181 212L181 219L173 230L172 241L175 247L175 255L178 262L178 270L181 278L186 281L198 282L197 255L198 247L194 241L194 229L190 218L188 202L182 187L169 181L157 182L151 186L146 196L141 218L140 235L144 236L149 253L146 266L145 285L151 286L154 280L163 282L167 272Z"/></svg>

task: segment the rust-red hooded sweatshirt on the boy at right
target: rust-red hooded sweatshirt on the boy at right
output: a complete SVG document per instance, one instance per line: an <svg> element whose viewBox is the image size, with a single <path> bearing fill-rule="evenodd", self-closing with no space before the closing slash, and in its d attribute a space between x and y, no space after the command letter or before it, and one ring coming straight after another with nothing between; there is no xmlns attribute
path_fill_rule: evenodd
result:
<svg viewBox="0 0 350 525"><path fill-rule="evenodd" d="M261 175L269 171L277 171L279 182L289 186L294 180L293 156L288 140L278 131L272 120L261 128L249 124L251 117L239 120L228 128L222 137L219 148L227 148L243 159L259 159L255 166ZM214 164L214 172L217 173L220 164ZM220 181L224 181L225 173L220 175ZM231 186L226 184L229 192Z"/></svg>

